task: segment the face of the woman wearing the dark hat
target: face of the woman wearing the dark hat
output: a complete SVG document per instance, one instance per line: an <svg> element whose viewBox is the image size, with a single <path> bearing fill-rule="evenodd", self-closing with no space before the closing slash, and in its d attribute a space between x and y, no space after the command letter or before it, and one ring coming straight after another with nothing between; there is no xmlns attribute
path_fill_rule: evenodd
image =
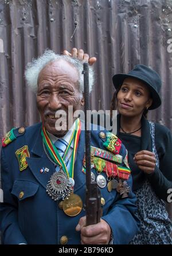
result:
<svg viewBox="0 0 172 256"><path fill-rule="evenodd" d="M140 116L153 100L147 86L136 78L128 77L117 95L117 108L121 115Z"/></svg>

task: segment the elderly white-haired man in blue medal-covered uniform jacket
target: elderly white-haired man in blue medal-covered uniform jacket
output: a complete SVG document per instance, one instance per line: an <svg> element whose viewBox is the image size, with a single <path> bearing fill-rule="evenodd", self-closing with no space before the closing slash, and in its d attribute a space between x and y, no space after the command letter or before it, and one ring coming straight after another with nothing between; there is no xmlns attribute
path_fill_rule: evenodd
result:
<svg viewBox="0 0 172 256"><path fill-rule="evenodd" d="M100 223L85 227L83 123L68 116L69 106L74 112L84 105L82 70L78 59L49 50L26 69L42 122L12 129L3 138L4 244L126 244L138 231L127 151L105 130L91 131L91 171L100 187L103 215ZM72 127L67 121L62 129L56 111L71 117Z"/></svg>

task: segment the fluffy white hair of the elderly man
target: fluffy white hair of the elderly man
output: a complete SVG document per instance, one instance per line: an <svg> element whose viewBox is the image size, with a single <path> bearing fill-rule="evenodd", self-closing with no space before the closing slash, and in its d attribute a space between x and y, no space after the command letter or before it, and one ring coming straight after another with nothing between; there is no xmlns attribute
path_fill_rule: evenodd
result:
<svg viewBox="0 0 172 256"><path fill-rule="evenodd" d="M34 92L37 92L37 82L38 76L41 70L48 65L48 63L56 61L57 59L64 59L65 61L71 63L79 73L79 91L84 92L84 75L83 62L79 61L77 58L69 57L67 55L55 54L52 50L46 50L43 55L37 59L33 59L32 62L28 63L25 70L25 77L28 85ZM95 82L95 74L92 67L89 66L89 92L92 91L93 84Z"/></svg>

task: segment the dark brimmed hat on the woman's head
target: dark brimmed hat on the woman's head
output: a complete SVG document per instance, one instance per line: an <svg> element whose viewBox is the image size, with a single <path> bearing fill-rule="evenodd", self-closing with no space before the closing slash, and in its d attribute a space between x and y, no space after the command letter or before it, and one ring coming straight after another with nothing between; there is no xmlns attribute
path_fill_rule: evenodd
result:
<svg viewBox="0 0 172 256"><path fill-rule="evenodd" d="M134 66L134 69L132 69L128 74L115 74L115 76L112 77L115 88L118 89L127 77L137 78L148 86L153 99L153 103L148 108L149 110L154 110L161 105L161 97L159 95L161 90L161 78L157 72L150 69L150 67L138 64Z"/></svg>

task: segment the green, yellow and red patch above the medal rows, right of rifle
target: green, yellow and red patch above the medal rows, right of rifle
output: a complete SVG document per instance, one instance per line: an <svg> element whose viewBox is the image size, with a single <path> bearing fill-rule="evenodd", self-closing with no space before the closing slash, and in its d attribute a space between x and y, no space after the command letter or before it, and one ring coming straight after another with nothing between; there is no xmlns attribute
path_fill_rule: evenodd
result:
<svg viewBox="0 0 172 256"><path fill-rule="evenodd" d="M105 148L113 152L115 155L119 154L122 142L113 133L106 134L106 141L103 143Z"/></svg>

